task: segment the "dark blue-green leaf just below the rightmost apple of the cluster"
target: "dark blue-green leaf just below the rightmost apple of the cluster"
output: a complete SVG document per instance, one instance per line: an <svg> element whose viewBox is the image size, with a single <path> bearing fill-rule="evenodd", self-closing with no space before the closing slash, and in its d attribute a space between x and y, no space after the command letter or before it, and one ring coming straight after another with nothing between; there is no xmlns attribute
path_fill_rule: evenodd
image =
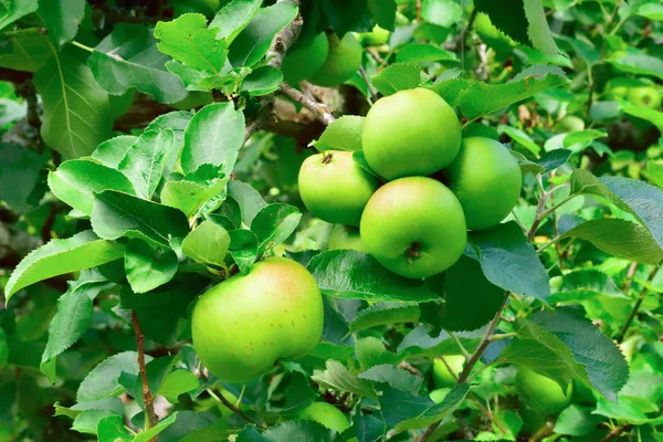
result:
<svg viewBox="0 0 663 442"><path fill-rule="evenodd" d="M471 232L470 241L478 249L478 262L491 283L546 302L550 295L548 273L518 224L511 221Z"/></svg>

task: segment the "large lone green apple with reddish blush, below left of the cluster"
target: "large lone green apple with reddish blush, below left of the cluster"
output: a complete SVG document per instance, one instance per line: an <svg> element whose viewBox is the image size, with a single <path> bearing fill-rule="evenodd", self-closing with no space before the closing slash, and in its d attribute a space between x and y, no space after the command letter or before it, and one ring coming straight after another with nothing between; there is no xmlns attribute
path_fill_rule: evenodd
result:
<svg viewBox="0 0 663 442"><path fill-rule="evenodd" d="M202 364L229 382L250 382L277 359L307 355L323 333L323 298L308 271L270 257L204 293L191 319Z"/></svg>

